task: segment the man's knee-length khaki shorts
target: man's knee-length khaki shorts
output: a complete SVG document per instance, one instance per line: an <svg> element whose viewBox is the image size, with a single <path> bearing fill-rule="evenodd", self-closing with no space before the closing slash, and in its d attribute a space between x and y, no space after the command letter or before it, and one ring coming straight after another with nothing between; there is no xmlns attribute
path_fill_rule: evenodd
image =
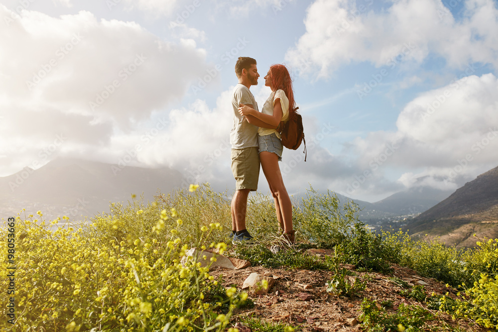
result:
<svg viewBox="0 0 498 332"><path fill-rule="evenodd" d="M242 149L232 149L232 173L237 184L236 190L257 190L259 178L259 153L255 146Z"/></svg>

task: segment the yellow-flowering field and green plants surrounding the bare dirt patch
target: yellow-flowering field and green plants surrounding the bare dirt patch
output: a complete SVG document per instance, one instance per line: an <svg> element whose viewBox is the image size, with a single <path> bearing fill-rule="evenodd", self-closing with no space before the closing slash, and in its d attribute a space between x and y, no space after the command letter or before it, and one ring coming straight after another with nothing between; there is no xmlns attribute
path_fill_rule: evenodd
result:
<svg viewBox="0 0 498 332"><path fill-rule="evenodd" d="M402 232L375 235L357 220L357 212L354 204L341 210L337 197L310 189L308 197L294 206L297 240L335 247L336 260L341 257L342 263L364 270L389 273L388 263L397 263L461 287L457 299L442 296L432 301L454 319L498 327L497 241L459 251L437 241L414 242ZM268 197L251 196L247 215L248 229L261 247L275 239L278 222ZM236 330L231 319L248 294L223 287L209 268L193 259L181 262L191 247L234 253L225 243L231 230L225 193L213 192L209 185L191 186L158 196L148 205L113 204L109 214L80 225L55 227L61 221L67 218L44 221L42 212L4 221L2 331ZM237 252L253 262L261 257L255 249ZM10 288L12 293L7 294ZM12 302L14 308L9 307ZM364 325L365 331L377 331Z"/></svg>

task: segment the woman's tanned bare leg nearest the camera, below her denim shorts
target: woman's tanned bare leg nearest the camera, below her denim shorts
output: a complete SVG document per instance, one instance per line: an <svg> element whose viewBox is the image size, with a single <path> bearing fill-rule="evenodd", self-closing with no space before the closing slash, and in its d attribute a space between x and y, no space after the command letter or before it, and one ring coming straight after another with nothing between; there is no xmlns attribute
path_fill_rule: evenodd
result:
<svg viewBox="0 0 498 332"><path fill-rule="evenodd" d="M285 233L292 233L292 203L282 180L282 173L278 167L278 156L273 152L259 152L259 160L271 195L275 200L275 210L280 226Z"/></svg>

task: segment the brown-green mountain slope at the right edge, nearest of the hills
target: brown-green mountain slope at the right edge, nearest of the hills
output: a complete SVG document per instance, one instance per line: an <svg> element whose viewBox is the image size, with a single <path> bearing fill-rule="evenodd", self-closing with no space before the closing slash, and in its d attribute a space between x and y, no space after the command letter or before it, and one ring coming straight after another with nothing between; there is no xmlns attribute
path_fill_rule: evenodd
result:
<svg viewBox="0 0 498 332"><path fill-rule="evenodd" d="M498 237L498 167L466 183L446 200L407 226L416 236L441 236L447 244L475 245L477 238Z"/></svg>

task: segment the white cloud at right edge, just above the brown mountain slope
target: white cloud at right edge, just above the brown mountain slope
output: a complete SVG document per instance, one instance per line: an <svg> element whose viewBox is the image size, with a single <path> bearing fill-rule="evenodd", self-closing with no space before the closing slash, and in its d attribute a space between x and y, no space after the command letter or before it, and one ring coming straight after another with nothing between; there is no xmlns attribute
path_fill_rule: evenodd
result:
<svg viewBox="0 0 498 332"><path fill-rule="evenodd" d="M469 76L408 103L396 132L372 132L353 146L358 163L371 171L423 169L399 178L407 187L421 185L424 178L435 188L458 188L498 164L497 123L497 77Z"/></svg>

